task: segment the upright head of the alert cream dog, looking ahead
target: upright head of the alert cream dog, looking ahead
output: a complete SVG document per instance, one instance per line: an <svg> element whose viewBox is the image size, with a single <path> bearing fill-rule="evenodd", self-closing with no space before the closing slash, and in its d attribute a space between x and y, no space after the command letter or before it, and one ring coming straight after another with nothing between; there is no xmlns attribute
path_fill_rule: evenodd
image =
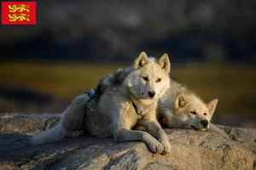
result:
<svg viewBox="0 0 256 170"><path fill-rule="evenodd" d="M125 85L139 99L159 99L169 88L171 64L167 54L158 61L142 52L134 61L131 74L125 79Z"/></svg>

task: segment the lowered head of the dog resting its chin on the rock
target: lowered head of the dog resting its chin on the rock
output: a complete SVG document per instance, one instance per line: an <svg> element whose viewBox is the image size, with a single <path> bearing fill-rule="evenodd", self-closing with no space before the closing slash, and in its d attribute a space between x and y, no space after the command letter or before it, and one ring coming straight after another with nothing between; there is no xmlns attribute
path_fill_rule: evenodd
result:
<svg viewBox="0 0 256 170"><path fill-rule="evenodd" d="M213 99L204 104L195 94L185 95L180 91L174 104L174 114L179 117L176 121L181 121L184 128L207 130L217 103L218 99Z"/></svg>

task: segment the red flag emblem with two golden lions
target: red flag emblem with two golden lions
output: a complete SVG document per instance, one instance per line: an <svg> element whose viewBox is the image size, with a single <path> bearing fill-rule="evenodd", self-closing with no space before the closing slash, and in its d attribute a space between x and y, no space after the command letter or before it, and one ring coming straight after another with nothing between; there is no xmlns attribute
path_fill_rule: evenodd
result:
<svg viewBox="0 0 256 170"><path fill-rule="evenodd" d="M36 2L2 2L2 25L36 25Z"/></svg>

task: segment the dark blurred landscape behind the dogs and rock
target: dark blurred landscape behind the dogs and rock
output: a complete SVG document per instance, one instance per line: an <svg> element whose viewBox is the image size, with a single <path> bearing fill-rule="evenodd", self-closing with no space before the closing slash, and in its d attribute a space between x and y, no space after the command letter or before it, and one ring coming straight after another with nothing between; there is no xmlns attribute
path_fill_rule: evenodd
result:
<svg viewBox="0 0 256 170"><path fill-rule="evenodd" d="M36 26L0 26L0 112L60 113L141 51L218 98L213 122L256 127L253 0L37 1Z"/></svg>

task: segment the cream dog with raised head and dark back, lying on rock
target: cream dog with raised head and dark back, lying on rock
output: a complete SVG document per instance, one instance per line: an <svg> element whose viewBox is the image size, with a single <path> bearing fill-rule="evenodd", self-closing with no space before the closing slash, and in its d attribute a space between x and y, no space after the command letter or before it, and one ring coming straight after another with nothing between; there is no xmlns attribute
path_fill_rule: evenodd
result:
<svg viewBox="0 0 256 170"><path fill-rule="evenodd" d="M88 132L101 138L113 136L117 142L140 140L153 152L170 152L171 145L155 114L158 99L170 87L170 69L167 54L155 62L143 52L129 71L109 76L112 82L104 77L95 94L90 91L74 99L61 122L32 137L32 144ZM148 133L131 130L135 125L147 127Z"/></svg>

